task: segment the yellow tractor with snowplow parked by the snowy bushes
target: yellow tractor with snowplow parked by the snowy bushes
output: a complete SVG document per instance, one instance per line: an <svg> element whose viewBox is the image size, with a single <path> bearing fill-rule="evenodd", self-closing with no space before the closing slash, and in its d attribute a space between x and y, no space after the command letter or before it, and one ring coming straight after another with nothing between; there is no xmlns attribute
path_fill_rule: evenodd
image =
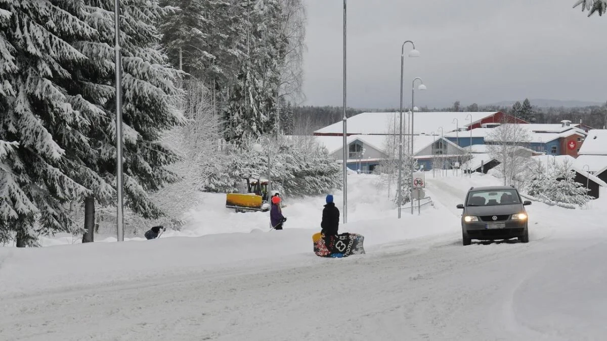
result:
<svg viewBox="0 0 607 341"><path fill-rule="evenodd" d="M236 212L266 212L270 209L270 198L278 191L270 191L270 181L262 179L259 174L244 172L239 174L243 180L240 193L226 194L226 208Z"/></svg>

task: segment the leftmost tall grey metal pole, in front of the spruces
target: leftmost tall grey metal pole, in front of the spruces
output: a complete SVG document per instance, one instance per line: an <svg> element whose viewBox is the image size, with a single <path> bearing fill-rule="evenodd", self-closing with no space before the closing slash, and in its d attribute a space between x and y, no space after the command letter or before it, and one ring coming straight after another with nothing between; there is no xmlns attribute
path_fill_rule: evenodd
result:
<svg viewBox="0 0 607 341"><path fill-rule="evenodd" d="M116 61L116 192L118 194L117 237L124 241L124 198L123 198L123 172L122 172L122 53L120 51L120 0L114 0L114 35L115 35L115 61Z"/></svg>

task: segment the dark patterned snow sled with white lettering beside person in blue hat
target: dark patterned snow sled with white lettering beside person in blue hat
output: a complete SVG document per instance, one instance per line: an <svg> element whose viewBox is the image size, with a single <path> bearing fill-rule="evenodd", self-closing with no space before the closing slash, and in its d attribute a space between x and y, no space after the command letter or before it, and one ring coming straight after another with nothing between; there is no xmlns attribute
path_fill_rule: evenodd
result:
<svg viewBox="0 0 607 341"><path fill-rule="evenodd" d="M312 235L314 253L320 257L342 258L364 254L365 237L356 233L342 233L325 237L320 232Z"/></svg>

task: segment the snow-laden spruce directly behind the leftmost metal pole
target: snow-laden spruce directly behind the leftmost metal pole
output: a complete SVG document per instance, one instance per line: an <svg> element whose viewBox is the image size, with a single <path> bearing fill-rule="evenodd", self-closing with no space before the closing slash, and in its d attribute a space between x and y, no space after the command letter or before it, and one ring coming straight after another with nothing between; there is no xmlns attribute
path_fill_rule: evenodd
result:
<svg viewBox="0 0 607 341"><path fill-rule="evenodd" d="M97 30L98 39L76 45L88 58L70 90L87 96L106 113L94 135L99 155L91 167L115 186L115 90L108 89L114 85L115 75L114 50L109 47L114 41L114 2L84 2L88 12L85 20ZM161 143L161 134L185 123L175 106L183 95L175 87L178 71L166 65L155 27L174 8L161 7L157 0L128 0L121 2L121 10L125 204L141 217L157 218L163 211L149 193L179 180L166 167L178 157ZM114 198L102 201L113 203Z"/></svg>

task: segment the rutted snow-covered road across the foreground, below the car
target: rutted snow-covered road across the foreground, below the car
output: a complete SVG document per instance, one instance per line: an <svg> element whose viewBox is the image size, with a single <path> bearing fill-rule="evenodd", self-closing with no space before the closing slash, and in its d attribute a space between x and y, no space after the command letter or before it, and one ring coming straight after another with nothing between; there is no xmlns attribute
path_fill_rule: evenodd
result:
<svg viewBox="0 0 607 341"><path fill-rule="evenodd" d="M607 240L413 240L2 299L5 340L600 340ZM294 265L294 266L291 266Z"/></svg>

